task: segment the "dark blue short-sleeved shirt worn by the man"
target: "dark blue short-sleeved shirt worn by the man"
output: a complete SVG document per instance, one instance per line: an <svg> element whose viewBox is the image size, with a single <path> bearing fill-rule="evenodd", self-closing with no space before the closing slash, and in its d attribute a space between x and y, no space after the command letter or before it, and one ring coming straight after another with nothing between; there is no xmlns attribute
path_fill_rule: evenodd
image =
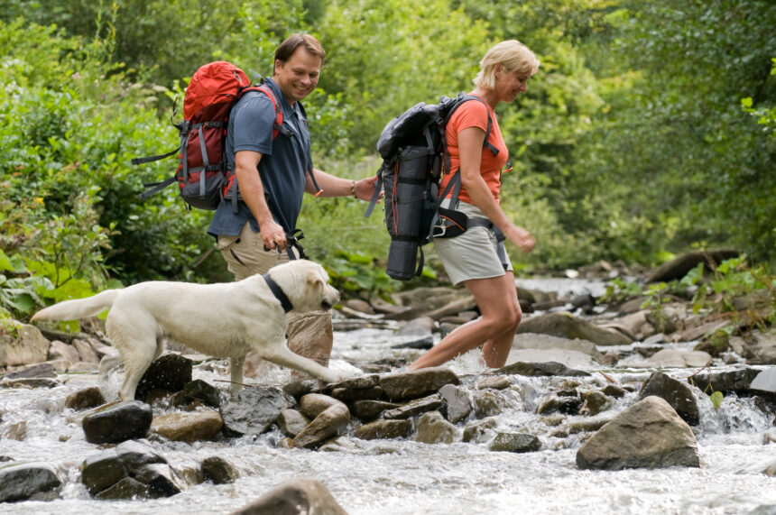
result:
<svg viewBox="0 0 776 515"><path fill-rule="evenodd" d="M235 152L252 151L262 154L258 173L262 179L265 198L274 220L286 232L296 228L304 196L307 170L312 170L309 151L307 116L299 102L293 107L282 96L281 89L272 79L266 84L273 90L282 107L283 128L291 135L278 133L273 141L275 111L272 100L260 91L249 91L232 108L226 132L226 167L235 170ZM226 198L218 206L210 222L208 234L240 234L245 222L259 232L258 222L242 200L233 212L232 200Z"/></svg>

